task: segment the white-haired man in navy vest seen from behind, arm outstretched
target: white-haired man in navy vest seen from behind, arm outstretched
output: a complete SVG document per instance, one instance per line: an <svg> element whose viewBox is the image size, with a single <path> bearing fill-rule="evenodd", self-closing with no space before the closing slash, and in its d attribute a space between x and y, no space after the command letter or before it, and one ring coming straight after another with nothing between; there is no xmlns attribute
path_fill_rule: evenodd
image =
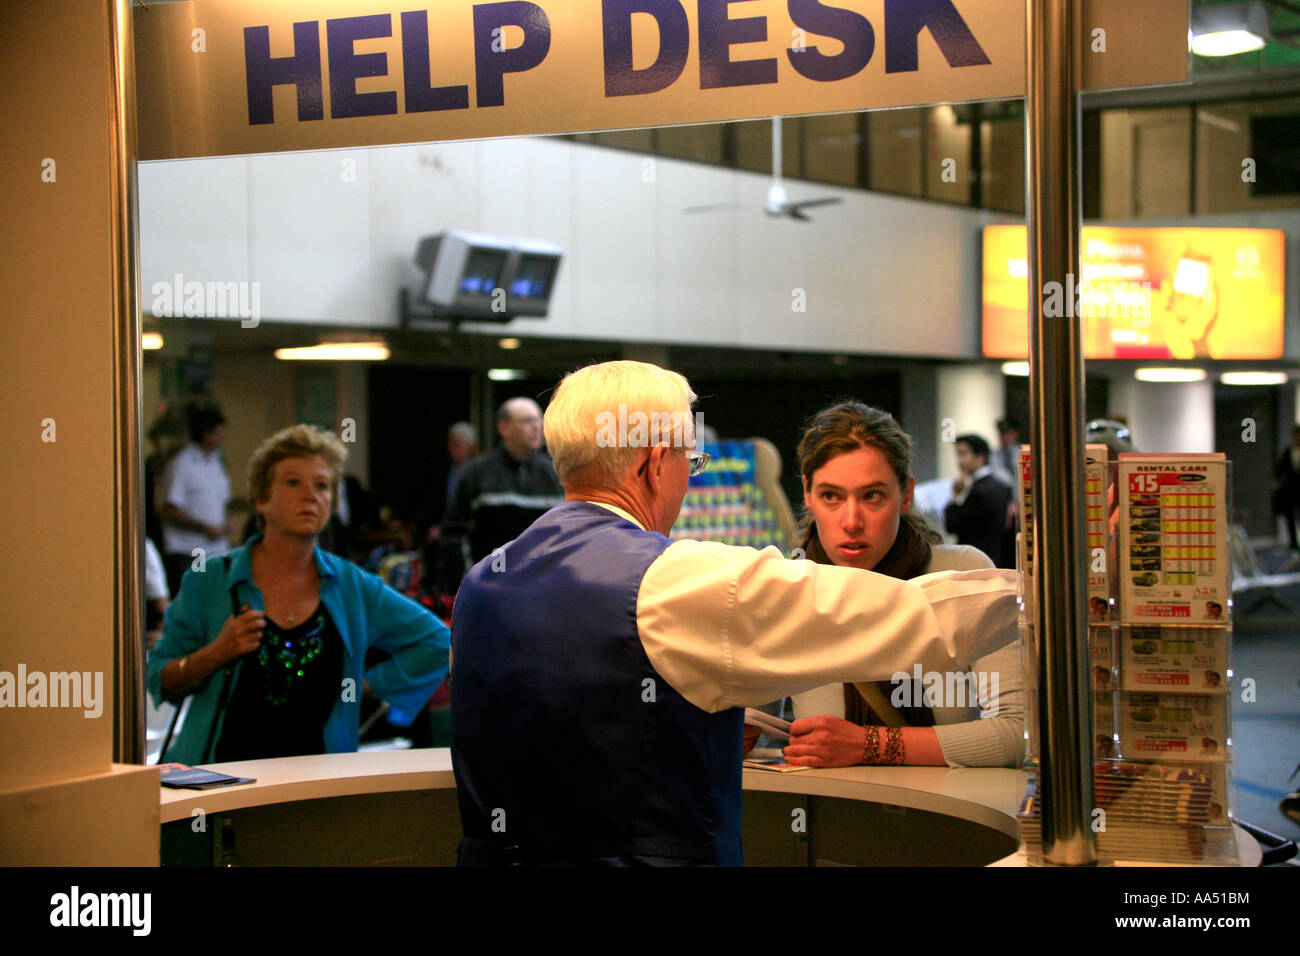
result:
<svg viewBox="0 0 1300 956"><path fill-rule="evenodd" d="M465 575L452 618L462 865L740 865L746 705L1015 639L1009 571L907 581L670 541L707 462L694 399L640 362L556 389L566 501Z"/></svg>

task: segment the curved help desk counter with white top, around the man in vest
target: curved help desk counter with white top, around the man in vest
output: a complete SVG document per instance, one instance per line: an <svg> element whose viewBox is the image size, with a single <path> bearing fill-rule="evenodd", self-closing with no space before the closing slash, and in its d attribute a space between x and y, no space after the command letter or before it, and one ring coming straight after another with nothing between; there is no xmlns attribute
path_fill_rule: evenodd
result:
<svg viewBox="0 0 1300 956"><path fill-rule="evenodd" d="M164 860L455 862L460 819L446 748L207 766L256 782L208 791L162 788ZM1024 783L1018 770L842 767L777 774L746 769L745 858L751 865L794 866L1014 865L1019 860L1015 813ZM194 823L200 816L203 827ZM168 823L173 825L170 842ZM181 844L188 844L181 847L183 852L177 849ZM1239 832L1239 844L1243 864L1257 864L1254 840Z"/></svg>

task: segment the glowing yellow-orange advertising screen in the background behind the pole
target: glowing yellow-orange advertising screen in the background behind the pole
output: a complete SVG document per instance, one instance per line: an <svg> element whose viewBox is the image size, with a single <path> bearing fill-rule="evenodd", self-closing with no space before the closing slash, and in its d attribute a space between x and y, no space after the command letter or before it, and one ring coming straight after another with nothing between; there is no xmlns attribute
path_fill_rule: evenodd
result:
<svg viewBox="0 0 1300 956"><path fill-rule="evenodd" d="M1082 281L1049 284L1044 319L1083 319L1088 359L1278 359L1280 229L1084 226ZM1024 226L984 229L984 355L1028 355Z"/></svg>

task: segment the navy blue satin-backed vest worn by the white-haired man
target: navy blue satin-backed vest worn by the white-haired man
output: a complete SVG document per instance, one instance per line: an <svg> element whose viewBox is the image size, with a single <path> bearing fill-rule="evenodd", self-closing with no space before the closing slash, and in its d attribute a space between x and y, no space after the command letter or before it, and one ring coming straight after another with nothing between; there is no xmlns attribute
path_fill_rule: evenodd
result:
<svg viewBox="0 0 1300 956"><path fill-rule="evenodd" d="M462 865L741 864L744 711L688 702L637 632L641 579L668 544L571 501L465 576L451 627Z"/></svg>

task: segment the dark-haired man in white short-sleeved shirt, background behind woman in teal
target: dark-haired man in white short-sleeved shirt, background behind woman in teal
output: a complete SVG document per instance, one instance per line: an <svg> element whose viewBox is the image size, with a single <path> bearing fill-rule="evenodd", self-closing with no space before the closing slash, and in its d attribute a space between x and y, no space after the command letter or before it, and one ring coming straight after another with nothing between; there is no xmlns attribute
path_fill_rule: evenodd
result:
<svg viewBox="0 0 1300 956"><path fill-rule="evenodd" d="M162 480L162 538L168 589L181 591L181 579L202 550L204 558L224 554L230 479L221 462L226 420L220 411L200 408L190 418L190 444L176 453Z"/></svg>

